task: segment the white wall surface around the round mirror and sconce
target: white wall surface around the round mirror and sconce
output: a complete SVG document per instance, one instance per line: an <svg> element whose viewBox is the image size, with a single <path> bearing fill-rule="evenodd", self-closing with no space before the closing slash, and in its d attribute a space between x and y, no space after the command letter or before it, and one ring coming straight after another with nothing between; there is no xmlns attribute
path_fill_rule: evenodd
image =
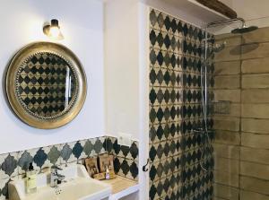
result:
<svg viewBox="0 0 269 200"><path fill-rule="evenodd" d="M74 4L75 3L75 4ZM44 22L59 20L65 39L59 41L80 58L88 78L81 113L67 126L39 130L23 124L4 100L0 85L0 153L13 152L104 135L103 5L95 0L2 0L0 4L0 74L13 54L33 41L48 40Z"/></svg>

